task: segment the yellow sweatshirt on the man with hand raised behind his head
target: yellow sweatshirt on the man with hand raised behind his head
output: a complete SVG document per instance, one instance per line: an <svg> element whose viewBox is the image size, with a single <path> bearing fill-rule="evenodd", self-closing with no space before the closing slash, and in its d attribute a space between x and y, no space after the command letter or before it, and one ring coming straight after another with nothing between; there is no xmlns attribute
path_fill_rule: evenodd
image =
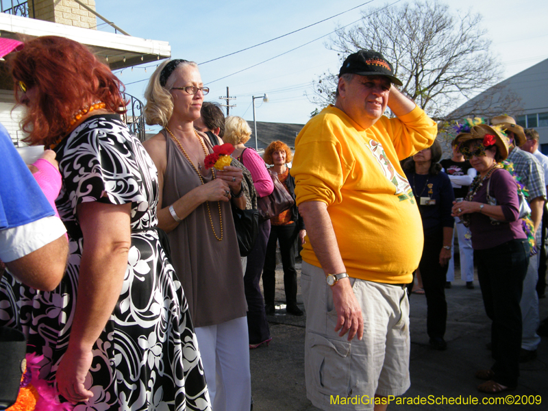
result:
<svg viewBox="0 0 548 411"><path fill-rule="evenodd" d="M323 201L351 277L409 283L423 251L421 216L399 160L432 145L436 123L416 107L363 129L330 105L295 140L297 205ZM303 260L321 267L307 240Z"/></svg>

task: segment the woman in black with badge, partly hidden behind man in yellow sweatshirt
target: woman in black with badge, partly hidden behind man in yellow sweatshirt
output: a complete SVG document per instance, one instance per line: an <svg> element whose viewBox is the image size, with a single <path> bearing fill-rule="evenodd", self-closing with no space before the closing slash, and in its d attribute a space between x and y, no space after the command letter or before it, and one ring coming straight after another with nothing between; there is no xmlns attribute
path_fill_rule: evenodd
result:
<svg viewBox="0 0 548 411"><path fill-rule="evenodd" d="M449 177L441 171L441 155L440 142L434 140L432 147L419 151L407 160L403 164L403 171L411 184L423 221L424 248L419 270L427 304L429 344L433 349L445 350L445 275L453 243L451 206L455 197ZM412 288L412 284L409 288Z"/></svg>

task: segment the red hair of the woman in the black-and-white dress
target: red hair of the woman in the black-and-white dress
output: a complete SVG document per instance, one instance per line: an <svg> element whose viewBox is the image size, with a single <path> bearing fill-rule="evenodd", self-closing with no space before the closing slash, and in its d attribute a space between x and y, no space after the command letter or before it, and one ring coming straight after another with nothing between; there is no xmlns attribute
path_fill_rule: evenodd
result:
<svg viewBox="0 0 548 411"><path fill-rule="evenodd" d="M42 36L25 42L10 59L17 104L27 105L21 129L31 145L49 145L66 134L73 116L96 101L106 110L123 114L125 105L120 80L79 42L58 36ZM28 99L18 86L21 81Z"/></svg>

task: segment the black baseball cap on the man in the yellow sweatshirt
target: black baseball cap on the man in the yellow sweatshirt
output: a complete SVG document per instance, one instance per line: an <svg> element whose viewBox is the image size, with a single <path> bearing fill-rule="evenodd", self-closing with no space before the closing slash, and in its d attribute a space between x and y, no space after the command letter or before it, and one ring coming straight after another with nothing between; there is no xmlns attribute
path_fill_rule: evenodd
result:
<svg viewBox="0 0 548 411"><path fill-rule="evenodd" d="M390 82L403 86L403 84L394 77L394 69L383 55L373 50L360 50L347 57L343 66L338 72L338 77L343 74L351 73L358 75L384 75L390 79Z"/></svg>

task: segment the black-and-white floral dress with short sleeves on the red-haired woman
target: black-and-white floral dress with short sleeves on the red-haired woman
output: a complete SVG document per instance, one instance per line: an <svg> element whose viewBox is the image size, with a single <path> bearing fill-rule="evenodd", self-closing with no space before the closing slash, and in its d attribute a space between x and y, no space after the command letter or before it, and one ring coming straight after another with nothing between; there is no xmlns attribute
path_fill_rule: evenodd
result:
<svg viewBox="0 0 548 411"><path fill-rule="evenodd" d="M69 232L69 263L58 288L36 291L6 275L0 325L23 329L28 351L44 356L51 382L69 343L84 247L76 207L132 203L132 247L118 303L93 347L80 410L210 410L188 304L160 246L158 175L119 116L92 116L56 149L63 185L55 201Z"/></svg>

